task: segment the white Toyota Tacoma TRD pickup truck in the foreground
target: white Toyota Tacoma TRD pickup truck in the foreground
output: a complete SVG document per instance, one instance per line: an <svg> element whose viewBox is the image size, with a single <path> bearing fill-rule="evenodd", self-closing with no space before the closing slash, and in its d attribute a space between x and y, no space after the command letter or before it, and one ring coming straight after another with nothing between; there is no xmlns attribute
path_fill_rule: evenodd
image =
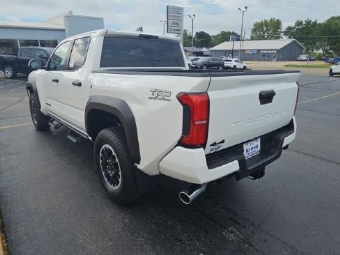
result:
<svg viewBox="0 0 340 255"><path fill-rule="evenodd" d="M299 72L189 70L178 37L96 30L65 39L42 66L30 62L39 70L27 84L35 128L93 141L115 202L160 174L191 184L187 204L220 178L261 178L296 135Z"/></svg>

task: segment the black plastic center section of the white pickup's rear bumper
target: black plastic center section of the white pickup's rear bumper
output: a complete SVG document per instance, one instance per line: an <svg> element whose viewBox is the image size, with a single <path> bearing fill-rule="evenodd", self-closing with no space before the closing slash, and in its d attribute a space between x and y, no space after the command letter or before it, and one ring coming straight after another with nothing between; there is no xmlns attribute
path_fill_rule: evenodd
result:
<svg viewBox="0 0 340 255"><path fill-rule="evenodd" d="M246 160L245 155L243 155L243 142L241 144L236 144L233 147L207 154L205 156L207 167L208 169L214 169L233 162L234 160L238 160L240 169L234 174L236 180L240 180L252 173L256 173L256 171L259 171L260 169L264 169L267 164L278 159L281 156L285 138L292 135L292 133L294 133L293 120L281 129L276 129L275 131L261 135L261 152L258 155Z"/></svg>

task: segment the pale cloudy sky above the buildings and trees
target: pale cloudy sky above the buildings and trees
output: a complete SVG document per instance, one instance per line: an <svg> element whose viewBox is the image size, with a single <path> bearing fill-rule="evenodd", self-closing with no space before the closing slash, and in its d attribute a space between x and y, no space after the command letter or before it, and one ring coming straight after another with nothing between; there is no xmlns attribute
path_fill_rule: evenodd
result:
<svg viewBox="0 0 340 255"><path fill-rule="evenodd" d="M246 37L252 24L261 19L281 19L283 27L297 19L318 19L340 15L339 0L0 0L0 20L40 22L72 10L74 15L104 17L105 28L162 33L160 19L167 19L167 5L184 8L184 28L191 31L187 15L195 14L194 33L203 30L216 35L221 30L240 32L238 7L245 13Z"/></svg>

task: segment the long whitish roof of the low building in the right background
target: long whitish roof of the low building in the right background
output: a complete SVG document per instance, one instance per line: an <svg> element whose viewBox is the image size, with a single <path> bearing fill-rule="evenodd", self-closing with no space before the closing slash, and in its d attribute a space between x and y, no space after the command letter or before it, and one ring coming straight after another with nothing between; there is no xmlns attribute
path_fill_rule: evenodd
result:
<svg viewBox="0 0 340 255"><path fill-rule="evenodd" d="M257 40L257 41L242 41L243 50L281 50L281 48L287 46L293 41L299 44L301 48L305 49L299 41L296 39L278 39L278 40ZM234 50L237 50L240 46L240 41L234 42ZM232 50L233 42L225 41L222 44L218 44L210 50Z"/></svg>

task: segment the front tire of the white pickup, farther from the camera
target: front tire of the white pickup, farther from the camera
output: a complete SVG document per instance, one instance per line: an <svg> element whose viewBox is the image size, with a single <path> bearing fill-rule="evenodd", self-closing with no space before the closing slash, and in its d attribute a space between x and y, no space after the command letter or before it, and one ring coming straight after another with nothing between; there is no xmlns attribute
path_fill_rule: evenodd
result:
<svg viewBox="0 0 340 255"><path fill-rule="evenodd" d="M30 104L30 117L32 117L33 125L35 129L38 131L46 131L50 129L50 125L48 122L50 121L50 117L41 113L39 108L39 102L35 93L31 93L29 97L29 104Z"/></svg>

